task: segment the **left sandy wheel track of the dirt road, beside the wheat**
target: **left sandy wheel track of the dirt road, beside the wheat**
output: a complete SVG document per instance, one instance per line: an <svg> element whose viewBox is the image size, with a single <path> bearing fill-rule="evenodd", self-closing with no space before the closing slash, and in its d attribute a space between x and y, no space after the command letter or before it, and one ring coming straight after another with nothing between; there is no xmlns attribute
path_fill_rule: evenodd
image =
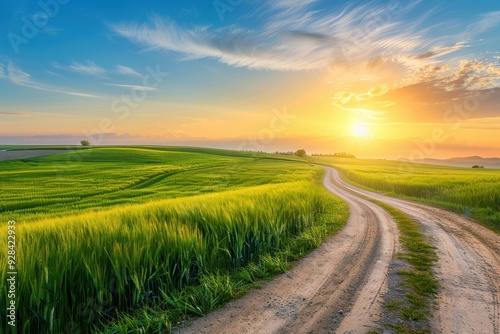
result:
<svg viewBox="0 0 500 334"><path fill-rule="evenodd" d="M392 218L376 205L324 185L350 206L347 225L286 274L176 333L366 333L380 329Z"/></svg>

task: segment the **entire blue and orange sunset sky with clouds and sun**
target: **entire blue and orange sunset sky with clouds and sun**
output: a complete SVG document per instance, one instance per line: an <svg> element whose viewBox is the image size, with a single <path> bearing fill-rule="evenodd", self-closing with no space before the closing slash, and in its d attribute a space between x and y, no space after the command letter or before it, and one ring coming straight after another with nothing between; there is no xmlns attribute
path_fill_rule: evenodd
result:
<svg viewBox="0 0 500 334"><path fill-rule="evenodd" d="M500 3L2 1L0 144L500 156Z"/></svg>

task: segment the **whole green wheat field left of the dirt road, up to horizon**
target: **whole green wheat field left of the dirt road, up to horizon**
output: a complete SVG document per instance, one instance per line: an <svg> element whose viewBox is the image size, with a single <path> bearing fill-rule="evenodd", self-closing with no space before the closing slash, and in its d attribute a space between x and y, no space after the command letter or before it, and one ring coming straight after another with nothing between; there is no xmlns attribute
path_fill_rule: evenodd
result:
<svg viewBox="0 0 500 334"><path fill-rule="evenodd" d="M26 333L127 332L137 321L168 331L176 312L205 314L266 271L286 270L279 251L301 243L306 252L347 214L321 187L321 168L265 155L95 148L0 166ZM200 285L208 291L198 297L181 293Z"/></svg>

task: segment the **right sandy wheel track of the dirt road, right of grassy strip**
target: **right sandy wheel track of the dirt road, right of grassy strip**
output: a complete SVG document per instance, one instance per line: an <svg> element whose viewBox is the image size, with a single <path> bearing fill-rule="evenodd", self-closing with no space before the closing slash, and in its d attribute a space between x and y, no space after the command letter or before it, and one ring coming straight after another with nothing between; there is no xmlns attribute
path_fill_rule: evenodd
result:
<svg viewBox="0 0 500 334"><path fill-rule="evenodd" d="M500 235L445 210L339 182L407 213L433 238L440 284L433 333L500 333Z"/></svg>

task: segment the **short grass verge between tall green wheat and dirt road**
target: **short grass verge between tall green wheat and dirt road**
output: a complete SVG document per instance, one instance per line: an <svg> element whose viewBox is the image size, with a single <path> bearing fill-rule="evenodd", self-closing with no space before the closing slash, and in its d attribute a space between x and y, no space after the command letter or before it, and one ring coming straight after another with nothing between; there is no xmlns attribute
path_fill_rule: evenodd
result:
<svg viewBox="0 0 500 334"><path fill-rule="evenodd" d="M289 239L282 249L267 252L239 269L203 273L198 284L182 290L161 291L154 307L121 313L97 333L170 333L173 327L204 316L242 297L251 288L259 288L260 282L284 273L345 225L347 206L326 194L326 190L325 196L331 204L328 209L318 215L310 228Z"/></svg>

